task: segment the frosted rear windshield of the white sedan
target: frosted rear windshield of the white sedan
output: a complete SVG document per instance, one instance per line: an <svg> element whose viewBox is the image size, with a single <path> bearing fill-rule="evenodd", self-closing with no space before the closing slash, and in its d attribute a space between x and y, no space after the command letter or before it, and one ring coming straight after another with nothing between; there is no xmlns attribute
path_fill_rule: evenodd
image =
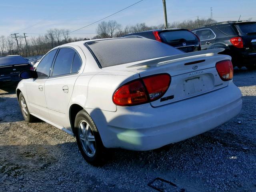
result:
<svg viewBox="0 0 256 192"><path fill-rule="evenodd" d="M182 54L167 44L146 38L119 38L85 43L101 67Z"/></svg>

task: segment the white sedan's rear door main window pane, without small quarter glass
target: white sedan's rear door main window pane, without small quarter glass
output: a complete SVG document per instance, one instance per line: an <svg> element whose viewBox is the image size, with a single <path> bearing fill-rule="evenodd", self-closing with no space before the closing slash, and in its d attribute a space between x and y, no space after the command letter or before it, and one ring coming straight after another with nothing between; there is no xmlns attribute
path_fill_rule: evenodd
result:
<svg viewBox="0 0 256 192"><path fill-rule="evenodd" d="M52 76L70 74L75 54L76 52L72 48L60 48L54 62Z"/></svg>

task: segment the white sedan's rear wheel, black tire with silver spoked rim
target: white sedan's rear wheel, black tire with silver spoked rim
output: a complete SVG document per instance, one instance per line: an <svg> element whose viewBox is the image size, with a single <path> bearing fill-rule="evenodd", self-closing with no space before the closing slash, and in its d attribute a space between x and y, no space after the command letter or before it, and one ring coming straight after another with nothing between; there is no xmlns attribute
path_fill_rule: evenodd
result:
<svg viewBox="0 0 256 192"><path fill-rule="evenodd" d="M81 125L82 124L82 125ZM88 141L88 137L86 137L86 134L83 134L82 132L82 126L88 126L88 131L90 128L90 134L94 136L95 141ZM84 159L94 165L94 166L100 166L104 163L105 161L105 156L106 156L106 148L102 144L102 140L100 138L100 134L96 128L96 125L94 124L92 118L89 116L89 114L85 110L81 110L76 114L76 119L75 119L75 135L76 135L76 142L78 144L78 148L80 152L82 153L82 156ZM85 139L86 138L86 139ZM93 140L93 139L92 139ZM86 142L91 142L90 144L86 144ZM86 146L88 146L87 151L86 151ZM93 145L92 148L95 148L95 153L93 154L93 150L90 150L90 146ZM92 155L93 154L93 155Z"/></svg>

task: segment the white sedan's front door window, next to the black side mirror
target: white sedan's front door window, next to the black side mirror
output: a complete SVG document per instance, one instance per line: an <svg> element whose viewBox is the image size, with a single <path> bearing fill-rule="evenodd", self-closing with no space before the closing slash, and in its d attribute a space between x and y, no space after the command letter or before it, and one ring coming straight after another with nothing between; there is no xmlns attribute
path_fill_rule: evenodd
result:
<svg viewBox="0 0 256 192"><path fill-rule="evenodd" d="M38 66L36 67L36 72L37 72L38 78L47 78L49 76L50 69L52 66L52 61L54 59L54 56L55 56L57 50L58 49L54 49L51 52L49 52L48 54L46 54L46 56L44 56L44 58L38 64Z"/></svg>

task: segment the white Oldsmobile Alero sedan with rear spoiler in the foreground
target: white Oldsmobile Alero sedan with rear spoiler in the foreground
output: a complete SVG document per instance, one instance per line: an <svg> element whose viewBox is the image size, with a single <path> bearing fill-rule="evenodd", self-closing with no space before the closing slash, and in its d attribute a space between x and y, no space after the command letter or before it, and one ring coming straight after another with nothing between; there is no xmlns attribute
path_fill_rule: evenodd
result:
<svg viewBox="0 0 256 192"><path fill-rule="evenodd" d="M16 93L27 122L37 117L76 136L97 164L106 148L152 150L236 116L242 95L220 51L184 53L146 38L73 42L20 73Z"/></svg>

